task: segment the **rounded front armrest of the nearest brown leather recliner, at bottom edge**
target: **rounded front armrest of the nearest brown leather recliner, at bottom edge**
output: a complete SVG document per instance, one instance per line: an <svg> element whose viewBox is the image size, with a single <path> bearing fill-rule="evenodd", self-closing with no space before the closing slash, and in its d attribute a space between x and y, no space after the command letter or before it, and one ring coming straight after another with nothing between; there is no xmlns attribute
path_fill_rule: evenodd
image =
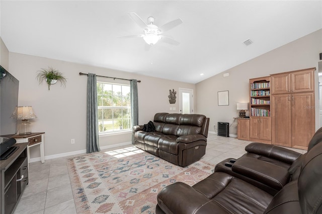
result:
<svg viewBox="0 0 322 214"><path fill-rule="evenodd" d="M166 186L157 194L156 199L165 213L195 213L209 202L204 194L182 182Z"/></svg>

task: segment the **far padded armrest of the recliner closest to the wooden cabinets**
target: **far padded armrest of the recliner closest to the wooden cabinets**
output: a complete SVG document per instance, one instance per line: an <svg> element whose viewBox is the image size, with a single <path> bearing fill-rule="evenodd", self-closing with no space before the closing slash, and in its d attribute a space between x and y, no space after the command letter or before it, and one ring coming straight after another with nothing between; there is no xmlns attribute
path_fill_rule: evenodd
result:
<svg viewBox="0 0 322 214"><path fill-rule="evenodd" d="M251 143L245 147L245 150L249 153L274 158L289 164L292 164L299 156L301 156L301 153L293 150L263 143Z"/></svg>

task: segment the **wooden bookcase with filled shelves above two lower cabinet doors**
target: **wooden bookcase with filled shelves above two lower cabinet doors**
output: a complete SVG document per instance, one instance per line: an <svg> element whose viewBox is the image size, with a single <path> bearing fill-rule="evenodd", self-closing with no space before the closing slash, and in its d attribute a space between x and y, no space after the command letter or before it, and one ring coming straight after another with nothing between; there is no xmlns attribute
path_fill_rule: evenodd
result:
<svg viewBox="0 0 322 214"><path fill-rule="evenodd" d="M250 140L271 144L271 77L250 79Z"/></svg>

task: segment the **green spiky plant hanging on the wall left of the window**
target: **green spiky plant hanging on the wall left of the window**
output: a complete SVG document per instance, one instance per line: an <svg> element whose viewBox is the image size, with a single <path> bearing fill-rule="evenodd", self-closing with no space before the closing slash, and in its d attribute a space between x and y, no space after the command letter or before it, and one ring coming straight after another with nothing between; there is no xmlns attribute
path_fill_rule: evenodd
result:
<svg viewBox="0 0 322 214"><path fill-rule="evenodd" d="M67 81L66 77L64 77L61 72L50 66L48 66L48 69L42 68L40 71L38 71L37 79L39 84L42 84L42 82L45 80L48 84L48 90L50 90L50 85L55 84L57 81L60 82L60 85L65 87Z"/></svg>

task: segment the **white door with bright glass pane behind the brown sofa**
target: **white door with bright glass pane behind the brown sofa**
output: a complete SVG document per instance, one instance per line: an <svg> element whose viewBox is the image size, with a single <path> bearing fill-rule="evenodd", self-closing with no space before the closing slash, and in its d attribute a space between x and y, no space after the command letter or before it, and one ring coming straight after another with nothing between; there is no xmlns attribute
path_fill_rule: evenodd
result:
<svg viewBox="0 0 322 214"><path fill-rule="evenodd" d="M179 113L193 114L193 89L179 88Z"/></svg>

